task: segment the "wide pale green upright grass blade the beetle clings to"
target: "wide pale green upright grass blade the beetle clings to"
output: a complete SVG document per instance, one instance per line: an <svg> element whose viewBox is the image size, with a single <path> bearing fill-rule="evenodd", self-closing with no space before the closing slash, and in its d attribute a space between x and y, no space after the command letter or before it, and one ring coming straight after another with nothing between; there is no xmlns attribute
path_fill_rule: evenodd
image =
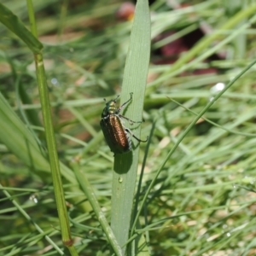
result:
<svg viewBox="0 0 256 256"><path fill-rule="evenodd" d="M143 98L148 75L150 53L150 16L148 1L137 1L131 29L130 49L128 50L122 87L121 103L127 101L133 92L131 104L125 116L138 121L142 119ZM140 127L133 130L140 137ZM142 136L143 139L146 136ZM111 227L119 245L123 246L129 236L131 211L137 178L139 147L135 140L133 149L127 154L116 154L113 166ZM125 254L125 247L123 247Z"/></svg>

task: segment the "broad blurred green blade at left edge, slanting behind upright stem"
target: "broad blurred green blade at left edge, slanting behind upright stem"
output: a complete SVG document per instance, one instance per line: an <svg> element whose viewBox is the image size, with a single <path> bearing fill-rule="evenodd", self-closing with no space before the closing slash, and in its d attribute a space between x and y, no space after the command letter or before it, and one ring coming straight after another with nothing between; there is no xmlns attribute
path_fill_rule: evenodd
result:
<svg viewBox="0 0 256 256"><path fill-rule="evenodd" d="M26 128L26 125L20 120L15 111L9 106L0 92L0 141L13 152L17 158L26 166L30 166L32 172L35 172L45 182L49 176L49 161L46 159L44 149L41 148L32 132ZM68 183L76 184L73 172L61 163L61 174ZM81 190L72 186L71 190L78 194ZM81 201L77 197L75 201ZM84 211L86 211L85 205Z"/></svg>

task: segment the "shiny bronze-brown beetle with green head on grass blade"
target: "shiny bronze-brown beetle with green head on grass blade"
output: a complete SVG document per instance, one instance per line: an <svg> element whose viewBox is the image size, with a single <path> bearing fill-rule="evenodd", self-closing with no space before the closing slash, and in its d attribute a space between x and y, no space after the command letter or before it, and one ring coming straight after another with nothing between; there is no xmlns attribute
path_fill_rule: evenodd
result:
<svg viewBox="0 0 256 256"><path fill-rule="evenodd" d="M130 99L127 102L123 103L119 108L116 107L116 102L119 96L117 96L113 100L110 100L109 102L106 102L106 99L104 99L104 101L106 102L106 107L102 111L102 119L100 125L102 127L103 135L113 154L125 154L131 151L131 137L129 137L128 133L132 137L137 139L139 143L148 142L148 137L144 141L139 139L131 132L130 129L126 128L121 122L121 119L128 120L131 125L133 125L134 123L143 122L132 121L131 119L128 119L124 115L120 114L122 108L124 108L128 102L131 102L132 95L133 93L131 92Z"/></svg>

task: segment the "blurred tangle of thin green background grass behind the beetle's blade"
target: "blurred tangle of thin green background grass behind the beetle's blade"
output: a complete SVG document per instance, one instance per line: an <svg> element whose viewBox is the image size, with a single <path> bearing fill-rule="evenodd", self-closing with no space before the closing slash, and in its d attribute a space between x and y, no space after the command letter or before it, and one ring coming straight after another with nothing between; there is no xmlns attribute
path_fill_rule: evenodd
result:
<svg viewBox="0 0 256 256"><path fill-rule="evenodd" d="M3 4L29 27L25 2ZM130 241L137 238L140 250L131 244L129 252L254 255L256 97L250 64L256 6L232 9L216 0L189 4L171 8L156 1L150 6L152 51L140 135L150 139L137 148L139 189L135 211L128 216L137 216ZM131 90L121 87L131 21L116 20L118 7L112 1L34 3L67 214L79 255L110 255L116 242L109 238L108 223L114 222L117 160L99 121L103 98L121 93L124 102ZM191 45L195 34L189 32L196 29L203 35ZM33 55L5 26L0 31L0 255L67 255L45 158ZM184 51L172 41L181 37L178 45ZM176 52L168 55L172 49ZM218 83L228 90L219 90ZM137 101L125 116L133 119ZM82 176L76 179L74 172ZM82 190L83 177L87 188ZM91 201L86 193L93 192Z"/></svg>

